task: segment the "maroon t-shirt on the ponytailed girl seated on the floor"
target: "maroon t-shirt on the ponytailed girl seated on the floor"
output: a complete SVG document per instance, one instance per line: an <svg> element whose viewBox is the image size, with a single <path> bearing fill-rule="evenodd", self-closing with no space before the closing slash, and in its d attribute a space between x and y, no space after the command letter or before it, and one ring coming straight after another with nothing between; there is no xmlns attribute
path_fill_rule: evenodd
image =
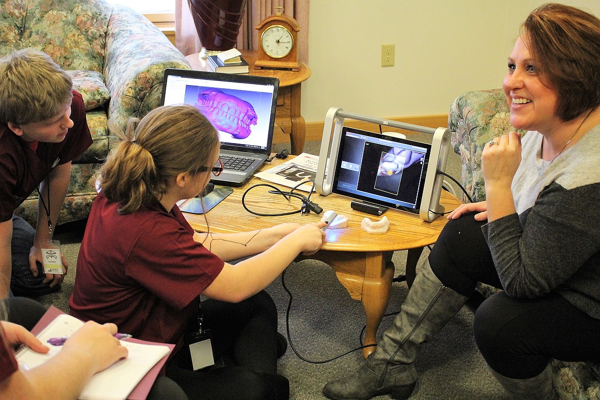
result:
<svg viewBox="0 0 600 400"><path fill-rule="evenodd" d="M198 296L224 266L194 240L179 207L158 201L119 215L102 192L92 205L69 301L81 320L117 324L134 338L181 345Z"/></svg>

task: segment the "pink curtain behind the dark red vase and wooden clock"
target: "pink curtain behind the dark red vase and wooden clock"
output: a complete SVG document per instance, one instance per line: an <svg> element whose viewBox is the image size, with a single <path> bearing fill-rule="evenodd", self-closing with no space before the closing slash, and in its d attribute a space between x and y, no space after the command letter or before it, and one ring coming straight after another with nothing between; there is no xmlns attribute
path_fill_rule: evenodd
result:
<svg viewBox="0 0 600 400"><path fill-rule="evenodd" d="M246 16L238 35L238 49L256 50L258 31L254 29L266 17L283 7L284 14L292 16L301 26L298 32L298 55L308 64L308 8L310 0L248 0ZM188 0L175 0L175 46L184 55L202 50L190 13Z"/></svg>

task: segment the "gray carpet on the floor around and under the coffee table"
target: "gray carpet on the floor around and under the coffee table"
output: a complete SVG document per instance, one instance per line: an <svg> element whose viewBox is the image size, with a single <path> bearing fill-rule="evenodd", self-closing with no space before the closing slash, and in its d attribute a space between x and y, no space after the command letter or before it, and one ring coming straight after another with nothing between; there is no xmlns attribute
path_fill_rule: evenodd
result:
<svg viewBox="0 0 600 400"><path fill-rule="evenodd" d="M279 151L282 146L275 146ZM305 151L318 154L319 143L310 142ZM446 173L460 181L460 160L451 152ZM455 186L454 184L452 184ZM455 189L456 190L456 189ZM76 259L85 229L85 221L59 225L55 238L61 240L63 252L71 267L61 291L39 297L45 305L55 305L68 311L68 295L76 275ZM427 257L425 249L421 262ZM396 275L404 272L406 251L394 255ZM286 271L285 282L293 294L290 310L290 336L298 353L311 361L323 361L337 357L359 347L359 334L364 327L364 310L360 302L350 299L335 273L320 261L305 260L293 263ZM280 316L280 332L286 332L286 309L289 296L281 279L267 288L277 304ZM405 282L392 285L388 312L400 309L406 298ZM473 310L476 301L467 303L460 312L433 339L422 346L416 367L419 383L411 399L486 399L504 400L508 397L488 373L472 335ZM392 322L385 317L379 335ZM310 363L300 359L288 348L281 357L279 369L290 380L292 399L324 399L321 389L326 381L349 374L361 362L362 351L326 363ZM388 398L381 396L380 398Z"/></svg>

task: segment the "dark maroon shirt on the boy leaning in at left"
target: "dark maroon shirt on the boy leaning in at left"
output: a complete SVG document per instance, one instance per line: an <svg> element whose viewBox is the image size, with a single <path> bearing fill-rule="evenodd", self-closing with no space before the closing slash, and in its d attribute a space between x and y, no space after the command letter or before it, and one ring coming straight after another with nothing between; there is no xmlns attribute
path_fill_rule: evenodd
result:
<svg viewBox="0 0 600 400"><path fill-rule="evenodd" d="M0 124L0 222L12 218L14 209L46 179L52 167L73 161L91 146L83 98L76 91L71 120L73 127L62 142L40 142L35 151L7 125Z"/></svg>

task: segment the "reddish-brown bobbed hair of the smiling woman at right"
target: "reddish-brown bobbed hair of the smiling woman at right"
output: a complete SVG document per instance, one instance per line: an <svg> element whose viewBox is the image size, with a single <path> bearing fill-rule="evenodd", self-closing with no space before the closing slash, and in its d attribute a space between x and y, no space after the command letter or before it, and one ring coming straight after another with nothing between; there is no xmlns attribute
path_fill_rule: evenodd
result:
<svg viewBox="0 0 600 400"><path fill-rule="evenodd" d="M575 7L544 4L523 25L540 79L558 94L556 113L571 121L600 104L600 19Z"/></svg>

